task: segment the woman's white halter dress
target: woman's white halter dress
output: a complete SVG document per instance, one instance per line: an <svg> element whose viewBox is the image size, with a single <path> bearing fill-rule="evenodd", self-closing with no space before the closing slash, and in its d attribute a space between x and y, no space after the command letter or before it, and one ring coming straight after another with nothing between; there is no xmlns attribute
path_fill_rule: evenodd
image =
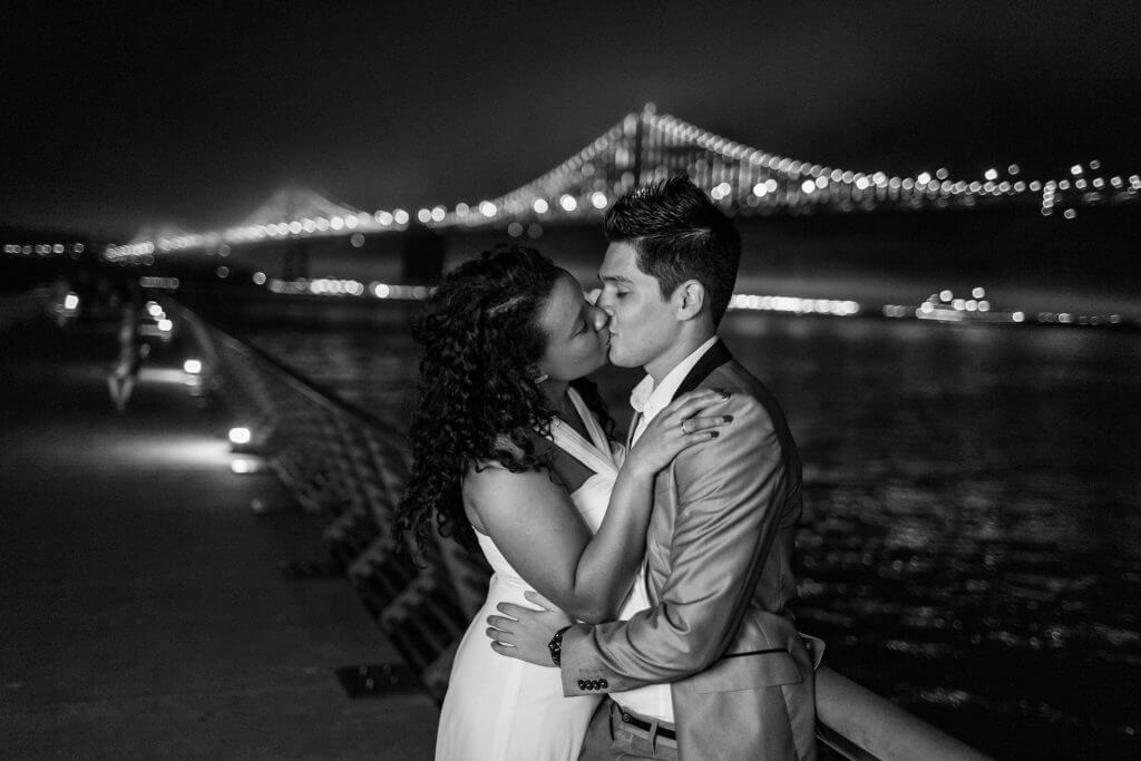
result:
<svg viewBox="0 0 1141 761"><path fill-rule="evenodd" d="M606 515L614 479L622 464L622 445L613 448L598 421L574 390L568 395L586 424L591 440L570 426L555 420L555 445L582 462L594 475L570 495L591 532ZM559 670L536 666L499 655L485 634L486 618L500 602L535 606L523 597L533 589L511 567L491 537L476 532L479 547L494 574L487 600L468 626L452 666L447 695L436 736L437 761L553 761L577 759L600 696L564 697ZM646 607L641 583L634 584L623 606L625 612Z"/></svg>

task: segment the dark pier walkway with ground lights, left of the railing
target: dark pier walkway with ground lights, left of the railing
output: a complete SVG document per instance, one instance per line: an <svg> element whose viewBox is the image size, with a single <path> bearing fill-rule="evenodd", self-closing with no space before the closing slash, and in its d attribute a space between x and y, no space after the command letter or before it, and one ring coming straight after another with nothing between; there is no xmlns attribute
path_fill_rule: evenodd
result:
<svg viewBox="0 0 1141 761"><path fill-rule="evenodd" d="M115 327L0 332L0 758L430 758L423 691L338 682L399 655L343 578L282 573L319 527L230 472L185 347L115 412Z"/></svg>

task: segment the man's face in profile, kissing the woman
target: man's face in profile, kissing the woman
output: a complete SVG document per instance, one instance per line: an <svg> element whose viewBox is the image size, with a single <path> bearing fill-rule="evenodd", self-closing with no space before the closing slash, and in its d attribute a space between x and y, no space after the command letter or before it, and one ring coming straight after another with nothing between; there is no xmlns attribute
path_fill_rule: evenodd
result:
<svg viewBox="0 0 1141 761"><path fill-rule="evenodd" d="M638 251L616 242L598 270L602 292L597 305L610 316L610 362L641 367L664 354L678 335L675 309L662 298L657 280L638 269Z"/></svg>

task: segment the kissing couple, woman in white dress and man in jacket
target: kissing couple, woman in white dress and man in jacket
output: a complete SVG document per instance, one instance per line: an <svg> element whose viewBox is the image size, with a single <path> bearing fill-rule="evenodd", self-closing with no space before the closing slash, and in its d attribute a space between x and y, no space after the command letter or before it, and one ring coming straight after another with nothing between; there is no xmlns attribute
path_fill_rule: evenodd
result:
<svg viewBox="0 0 1141 761"><path fill-rule="evenodd" d="M494 570L436 758L812 759L823 643L786 609L800 459L717 334L741 235L686 177L634 188L605 229L594 302L503 248L418 326L398 524ZM588 378L607 358L646 371L625 445Z"/></svg>

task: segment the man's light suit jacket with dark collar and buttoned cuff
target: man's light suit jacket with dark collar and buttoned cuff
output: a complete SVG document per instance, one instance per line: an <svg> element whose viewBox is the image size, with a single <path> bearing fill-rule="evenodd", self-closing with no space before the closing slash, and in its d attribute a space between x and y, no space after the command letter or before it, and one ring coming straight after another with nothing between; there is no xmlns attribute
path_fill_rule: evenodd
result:
<svg viewBox="0 0 1141 761"><path fill-rule="evenodd" d="M718 341L678 394L733 394L720 437L658 473L653 607L563 637L567 696L670 682L681 759L814 759L814 661L788 618L801 464L784 413Z"/></svg>

